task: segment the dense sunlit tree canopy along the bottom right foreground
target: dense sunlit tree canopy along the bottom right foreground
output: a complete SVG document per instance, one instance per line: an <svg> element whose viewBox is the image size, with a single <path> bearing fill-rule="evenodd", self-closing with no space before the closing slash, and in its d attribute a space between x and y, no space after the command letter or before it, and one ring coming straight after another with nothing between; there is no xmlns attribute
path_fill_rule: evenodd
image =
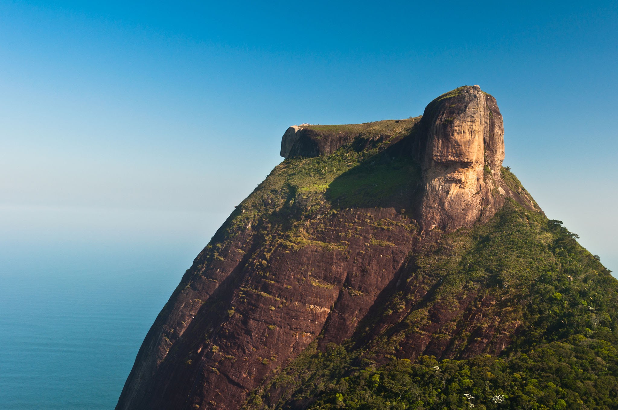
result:
<svg viewBox="0 0 618 410"><path fill-rule="evenodd" d="M394 359L329 380L310 408L615 409L616 350L607 347L572 338L508 358ZM332 349L322 360L348 363L337 355L345 358Z"/></svg>

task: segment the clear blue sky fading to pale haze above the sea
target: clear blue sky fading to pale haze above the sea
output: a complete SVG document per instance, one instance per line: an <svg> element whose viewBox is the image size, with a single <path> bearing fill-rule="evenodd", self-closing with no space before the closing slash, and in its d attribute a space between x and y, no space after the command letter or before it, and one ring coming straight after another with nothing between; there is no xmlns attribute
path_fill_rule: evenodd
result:
<svg viewBox="0 0 618 410"><path fill-rule="evenodd" d="M173 244L188 267L287 126L480 84L504 165L616 273L617 27L616 1L0 0L2 252Z"/></svg>

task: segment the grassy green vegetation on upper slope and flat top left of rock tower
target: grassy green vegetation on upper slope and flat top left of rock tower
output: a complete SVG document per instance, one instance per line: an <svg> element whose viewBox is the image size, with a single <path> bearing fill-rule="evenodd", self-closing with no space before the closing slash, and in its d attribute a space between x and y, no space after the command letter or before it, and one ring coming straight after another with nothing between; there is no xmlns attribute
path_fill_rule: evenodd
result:
<svg viewBox="0 0 618 410"><path fill-rule="evenodd" d="M352 130L358 132L360 139L376 133L396 137L409 133L419 119L311 128L329 132ZM345 240L340 244L316 240L306 231L305 221L336 215L342 208L407 208L420 178L420 168L409 157L389 155L390 145L388 139L359 151L352 142L328 156L284 160L237 205L205 248L201 266L223 260L221 250L248 229L261 236L259 242L265 255L279 246L290 252L308 245L345 250ZM268 274L265 260L252 262L256 269Z"/></svg>

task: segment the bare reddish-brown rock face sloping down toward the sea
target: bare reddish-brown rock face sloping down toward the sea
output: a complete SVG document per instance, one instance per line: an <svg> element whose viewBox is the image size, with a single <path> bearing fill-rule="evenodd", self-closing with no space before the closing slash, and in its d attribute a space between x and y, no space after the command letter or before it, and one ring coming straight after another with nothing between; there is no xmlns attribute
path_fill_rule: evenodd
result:
<svg viewBox="0 0 618 410"><path fill-rule="evenodd" d="M394 229L376 233L378 220ZM304 229L323 223L294 252L249 228L214 260L201 253L146 336L117 409L237 409L320 332L324 343L350 337L396 276L413 234L392 209L342 211ZM349 231L347 252L324 246Z"/></svg>

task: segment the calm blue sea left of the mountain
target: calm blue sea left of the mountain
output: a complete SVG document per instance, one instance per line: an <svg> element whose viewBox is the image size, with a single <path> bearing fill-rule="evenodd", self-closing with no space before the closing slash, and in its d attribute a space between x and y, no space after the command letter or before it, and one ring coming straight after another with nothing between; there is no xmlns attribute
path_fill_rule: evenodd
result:
<svg viewBox="0 0 618 410"><path fill-rule="evenodd" d="M189 252L130 244L0 251L0 408L113 409Z"/></svg>

